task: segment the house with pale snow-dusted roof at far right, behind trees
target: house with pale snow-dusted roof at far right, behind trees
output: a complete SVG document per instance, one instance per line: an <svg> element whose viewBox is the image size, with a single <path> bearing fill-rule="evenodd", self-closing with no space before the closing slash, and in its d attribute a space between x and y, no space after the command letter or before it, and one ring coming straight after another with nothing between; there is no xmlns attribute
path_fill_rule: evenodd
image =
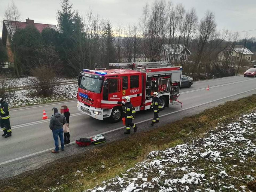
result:
<svg viewBox="0 0 256 192"><path fill-rule="evenodd" d="M251 56L254 55L248 48L243 45L235 45L233 47L228 46L218 54L219 60L225 60L227 57L231 57L232 60L251 62Z"/></svg>

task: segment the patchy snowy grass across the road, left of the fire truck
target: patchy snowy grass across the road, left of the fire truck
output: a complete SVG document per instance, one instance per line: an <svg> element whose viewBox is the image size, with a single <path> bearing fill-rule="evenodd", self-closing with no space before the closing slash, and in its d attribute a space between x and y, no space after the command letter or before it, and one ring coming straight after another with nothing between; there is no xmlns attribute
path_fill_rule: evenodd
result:
<svg viewBox="0 0 256 192"><path fill-rule="evenodd" d="M36 105L47 102L55 102L67 99L76 99L78 92L78 84L60 85L55 87L55 93L50 98L31 96L30 93L35 90L16 91L14 97L7 98L6 101L10 107L18 107L23 105Z"/></svg>

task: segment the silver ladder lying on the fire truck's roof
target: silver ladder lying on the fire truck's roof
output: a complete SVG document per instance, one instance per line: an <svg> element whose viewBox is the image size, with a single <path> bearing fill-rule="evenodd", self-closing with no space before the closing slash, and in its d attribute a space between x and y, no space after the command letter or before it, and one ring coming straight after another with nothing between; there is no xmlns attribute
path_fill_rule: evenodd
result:
<svg viewBox="0 0 256 192"><path fill-rule="evenodd" d="M127 63L109 63L109 66L113 66L113 67L120 67L122 69L122 67L130 67L130 66L134 66L135 69L148 69L148 68L158 68L158 67L173 67L174 64L170 64L170 63L165 63L165 62L127 62Z"/></svg>

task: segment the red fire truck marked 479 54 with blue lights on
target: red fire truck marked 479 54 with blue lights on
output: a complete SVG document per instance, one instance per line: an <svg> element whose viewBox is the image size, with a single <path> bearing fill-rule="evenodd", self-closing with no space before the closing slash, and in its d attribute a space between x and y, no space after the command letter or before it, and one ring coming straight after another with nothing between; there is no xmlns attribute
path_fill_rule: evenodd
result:
<svg viewBox="0 0 256 192"><path fill-rule="evenodd" d="M83 69L78 76L77 108L95 119L122 118L122 100L131 98L136 111L150 108L158 92L162 110L179 105L181 66L164 62L109 63L114 69Z"/></svg>

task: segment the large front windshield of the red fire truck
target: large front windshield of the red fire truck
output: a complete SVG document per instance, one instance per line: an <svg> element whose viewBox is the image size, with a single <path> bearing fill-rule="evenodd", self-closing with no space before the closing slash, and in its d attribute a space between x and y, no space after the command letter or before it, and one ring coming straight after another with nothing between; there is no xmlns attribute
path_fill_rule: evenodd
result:
<svg viewBox="0 0 256 192"><path fill-rule="evenodd" d="M96 78L93 77L87 77L87 76L82 76L81 77L81 82L79 84L79 87L84 90L88 90L94 93L100 93L103 79L97 79L99 78L97 75Z"/></svg>

